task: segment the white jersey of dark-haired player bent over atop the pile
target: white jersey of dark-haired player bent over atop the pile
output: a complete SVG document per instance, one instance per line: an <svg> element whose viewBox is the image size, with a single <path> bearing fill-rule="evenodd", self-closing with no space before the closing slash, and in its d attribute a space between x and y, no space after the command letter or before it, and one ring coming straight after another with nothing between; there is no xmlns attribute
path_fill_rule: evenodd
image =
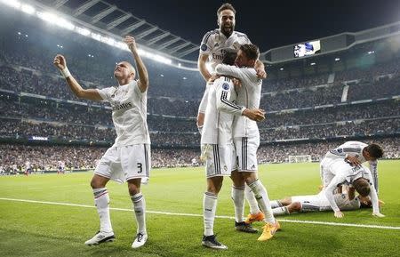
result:
<svg viewBox="0 0 400 257"><path fill-rule="evenodd" d="M346 156L357 157L357 159L364 163L366 162L363 156L363 149L368 145L359 141L347 141L336 149L332 149L325 154L326 158L344 159Z"/></svg>

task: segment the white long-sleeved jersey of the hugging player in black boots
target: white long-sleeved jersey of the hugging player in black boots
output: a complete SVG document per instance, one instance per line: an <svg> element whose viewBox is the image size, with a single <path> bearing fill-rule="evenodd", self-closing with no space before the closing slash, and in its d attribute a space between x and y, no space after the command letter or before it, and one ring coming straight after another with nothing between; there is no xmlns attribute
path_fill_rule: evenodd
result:
<svg viewBox="0 0 400 257"><path fill-rule="evenodd" d="M235 100L235 87L230 78L220 76L210 85L207 108L205 109L202 145L233 143L233 115L242 115L244 110L234 103Z"/></svg>

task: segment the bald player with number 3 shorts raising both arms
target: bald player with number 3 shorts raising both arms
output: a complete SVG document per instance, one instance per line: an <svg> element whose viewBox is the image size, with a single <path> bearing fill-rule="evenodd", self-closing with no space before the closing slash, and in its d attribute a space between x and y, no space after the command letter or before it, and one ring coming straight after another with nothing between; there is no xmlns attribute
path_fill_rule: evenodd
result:
<svg viewBox="0 0 400 257"><path fill-rule="evenodd" d="M100 231L84 242L85 245L98 245L115 239L109 217L109 197L106 189L109 180L128 183L138 226L132 248L144 245L148 239L146 203L140 192L140 182L142 179L148 179L150 171L150 138L147 124L148 71L140 59L135 39L132 36L125 36L124 43L132 52L139 79L135 80L135 69L132 64L121 61L116 64L114 70L118 83L116 86L83 89L69 73L67 62L62 55L58 54L53 61L77 97L105 100L110 103L116 127L116 141L101 157L91 181L94 203L100 217Z"/></svg>

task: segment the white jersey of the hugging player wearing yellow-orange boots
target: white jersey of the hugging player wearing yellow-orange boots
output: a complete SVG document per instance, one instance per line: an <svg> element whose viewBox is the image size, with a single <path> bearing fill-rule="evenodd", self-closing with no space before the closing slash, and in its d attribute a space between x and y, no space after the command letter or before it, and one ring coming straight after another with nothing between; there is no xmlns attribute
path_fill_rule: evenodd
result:
<svg viewBox="0 0 400 257"><path fill-rule="evenodd" d="M220 75L234 76L241 81L242 86L237 91L237 105L245 108L260 108L262 81L254 68L237 68L219 64L215 71ZM236 117L233 127L235 138L260 137L257 123L246 116Z"/></svg>

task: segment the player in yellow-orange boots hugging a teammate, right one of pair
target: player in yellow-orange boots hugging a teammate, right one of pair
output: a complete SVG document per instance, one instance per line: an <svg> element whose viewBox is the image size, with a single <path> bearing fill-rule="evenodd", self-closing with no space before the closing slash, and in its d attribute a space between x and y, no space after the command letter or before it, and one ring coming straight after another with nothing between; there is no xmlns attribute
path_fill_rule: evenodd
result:
<svg viewBox="0 0 400 257"><path fill-rule="evenodd" d="M215 68L217 75L234 76L242 86L237 92L237 104L245 108L259 108L262 81L254 69L256 60L260 56L259 48L254 44L241 45L236 57L236 66L219 64ZM238 170L232 172L235 191L232 198L235 202L236 220L243 219L244 213L244 185L247 184L254 193L262 213L265 214L264 230L259 241L266 241L273 237L279 229L269 204L267 189L258 179L257 149L260 145L260 132L255 121L245 116L235 118L233 135L238 160Z"/></svg>

